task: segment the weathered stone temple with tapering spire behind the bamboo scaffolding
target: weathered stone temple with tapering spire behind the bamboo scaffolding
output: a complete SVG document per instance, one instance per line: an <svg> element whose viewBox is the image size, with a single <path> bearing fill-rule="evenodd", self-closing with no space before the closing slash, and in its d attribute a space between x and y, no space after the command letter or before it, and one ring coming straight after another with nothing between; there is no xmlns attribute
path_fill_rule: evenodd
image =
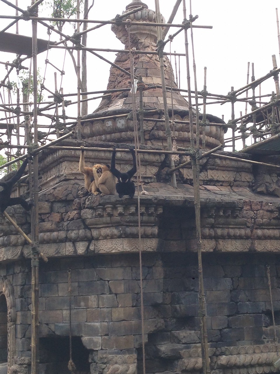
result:
<svg viewBox="0 0 280 374"><path fill-rule="evenodd" d="M137 7L133 1L127 9ZM155 12L145 8L130 16L132 46L155 50ZM150 22L141 27L141 22ZM127 48L127 31L113 26ZM156 55L134 56L135 74L160 84ZM115 63L129 70L128 56ZM166 79L174 77L165 58ZM108 89L129 87L129 77L111 68ZM188 119L186 100L174 92L175 119ZM133 123L130 93L113 93L83 122L85 146L128 148ZM146 118L163 116L162 93L144 92ZM168 104L171 109L170 92ZM149 110L153 110L149 113ZM208 115L206 149L223 143L223 123ZM177 145L188 147L189 128L176 125ZM143 149L166 149L163 123L145 120ZM77 140L61 145L80 146ZM212 373L276 372L280 346L280 193L277 170L246 160L280 163L277 152L237 154L243 161L214 154L201 160L200 204L203 276ZM278 152L279 153L279 152ZM108 151L85 152L87 165L109 163ZM48 257L40 263L39 372L66 374L69 361L68 270L71 269L72 359L78 373L142 373L140 267L137 197L93 196L78 171L79 150L49 149L40 156L39 240ZM244 162L245 159L245 162ZM131 167L128 153L117 154L118 167ZM169 184L168 158L141 154L145 189L140 197L143 249L144 341L146 373L202 371L198 315L198 271L192 170L176 173ZM22 188L23 192L24 189ZM7 212L25 233L29 213ZM9 222L0 218L0 370L30 371L31 249ZM270 282L267 277L270 266ZM273 325L270 288L274 307ZM1 372L1 371L0 371ZM1 372L2 373L2 372Z"/></svg>

